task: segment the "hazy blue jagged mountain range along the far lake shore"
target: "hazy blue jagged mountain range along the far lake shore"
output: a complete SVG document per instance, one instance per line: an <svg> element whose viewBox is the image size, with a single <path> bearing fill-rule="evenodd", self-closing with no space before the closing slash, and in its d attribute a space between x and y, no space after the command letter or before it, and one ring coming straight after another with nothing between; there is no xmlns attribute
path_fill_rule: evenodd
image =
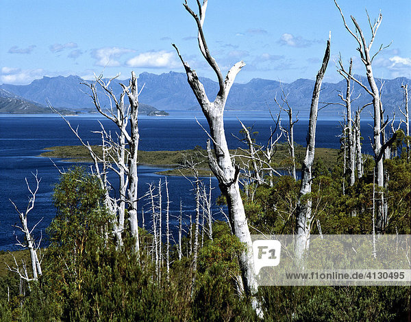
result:
<svg viewBox="0 0 411 322"><path fill-rule="evenodd" d="M366 78L356 76L366 84ZM214 100L218 91L218 83L205 77L199 77L210 100ZM398 107L403 104L403 93L401 84L411 84L410 79L399 77L397 79L382 79L384 86L382 88L382 102L386 115L391 115L397 111ZM43 77L30 83L29 85L0 85L0 89L6 90L16 96L21 96L27 100L47 105L47 99L54 107L72 109L74 111L90 111L94 109L91 98L86 94L88 88L80 83L84 82L78 76L69 77ZM127 83L128 80L112 81L112 90L119 94L121 87L119 83ZM142 103L164 110L190 110L199 109L199 104L192 94L192 90L187 83L187 77L184 73L168 72L161 75L155 75L148 72L142 72L138 77L139 87L145 87L142 90L139 100ZM342 103L338 97L339 92L345 92L346 82L343 79L338 83L323 83L320 101L325 103ZM269 79L251 79L248 83L234 83L227 100L227 109L231 110L266 110L277 111L274 98L282 94L288 94L288 103L293 110L299 112L300 118L308 117L312 90L314 81L310 79L297 79L292 83L280 83ZM353 109L362 107L371 101L371 96L367 94L360 85L353 84L352 98L360 97L353 102ZM101 105L108 105L109 101L105 98L103 92L99 92ZM141 111L144 111L144 105L140 105ZM151 110L147 110L149 113ZM319 113L319 117L331 118L338 117L343 111L340 105L328 105ZM369 111L371 109L369 108ZM398 111L397 111L398 114Z"/></svg>

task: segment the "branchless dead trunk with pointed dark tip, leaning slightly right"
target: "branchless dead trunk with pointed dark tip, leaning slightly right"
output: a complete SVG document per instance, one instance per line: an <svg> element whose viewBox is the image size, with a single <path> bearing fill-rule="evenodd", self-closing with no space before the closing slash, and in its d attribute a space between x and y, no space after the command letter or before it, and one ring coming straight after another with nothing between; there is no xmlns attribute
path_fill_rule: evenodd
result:
<svg viewBox="0 0 411 322"><path fill-rule="evenodd" d="M297 256L297 263L301 264L303 253L308 250L310 246L310 230L312 222L312 200L310 198L311 184L312 184L312 164L314 163L315 152L315 135L316 135L316 120L319 110L319 96L321 84L325 70L329 61L329 48L331 44L331 32L327 40L327 48L323 58L323 64L316 75L314 85L314 92L312 92L310 121L308 122L308 137L306 157L304 157L301 167L301 188L299 191L299 198L297 200L297 216L296 216L296 239L295 239L295 254Z"/></svg>

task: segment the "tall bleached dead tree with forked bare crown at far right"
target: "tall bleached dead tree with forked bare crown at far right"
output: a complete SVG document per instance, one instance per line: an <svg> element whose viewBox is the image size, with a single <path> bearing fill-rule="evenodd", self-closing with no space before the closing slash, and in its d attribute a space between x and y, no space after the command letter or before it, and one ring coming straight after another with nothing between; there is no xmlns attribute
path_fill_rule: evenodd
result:
<svg viewBox="0 0 411 322"><path fill-rule="evenodd" d="M384 163L383 163L383 157L384 157L384 152L390 144L393 142L393 138L395 139L394 135L391 137L390 140L386 141L384 144L382 144L382 132L384 131L386 125L388 124L388 120L384 122L382 120L382 103L381 103L381 96L379 92L379 88L377 87L377 83L375 82L374 76L373 76L373 67L372 67L372 62L375 56L382 51L382 49L386 48L387 46L383 47L382 45L379 46L379 49L374 55L371 55L371 46L373 46L373 42L375 40L375 34L377 33L377 29L379 25L381 24L382 21L382 14L379 13L379 16L377 20L374 23L371 23L371 19L369 18L368 14L367 17L369 19L369 27L371 29L371 40L369 42L366 41L364 33L362 32L362 29L360 28L360 25L358 25L356 19L351 16L351 21L353 21L353 24L355 26L355 32L351 31L349 26L347 25L345 21L345 17L343 15L342 10L338 6L338 3L336 0L334 0L334 3L336 4L338 10L340 11L340 15L343 18L343 23L345 25L345 29L353 36L353 38L358 42L358 53L360 53L360 58L362 63L365 66L366 70L366 79L369 83L369 88L364 85L360 79L356 79L356 77L351 77L351 79L358 83L368 94L371 95L373 98L373 107L374 107L374 133L373 133L373 150L374 150L374 159L375 159L375 166L377 168L377 189L379 190L379 193L381 195L381 198L377 200L377 233L382 233L384 232L387 224L388 224L388 213L384 210ZM389 46L389 45L388 45ZM349 72L343 68L343 66L340 66L340 72L342 72L345 75L349 75Z"/></svg>

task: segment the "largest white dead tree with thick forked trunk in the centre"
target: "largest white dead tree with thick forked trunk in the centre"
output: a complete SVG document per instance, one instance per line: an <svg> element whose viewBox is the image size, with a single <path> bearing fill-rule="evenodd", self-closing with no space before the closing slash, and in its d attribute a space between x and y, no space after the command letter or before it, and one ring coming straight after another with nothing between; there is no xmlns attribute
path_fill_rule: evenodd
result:
<svg viewBox="0 0 411 322"><path fill-rule="evenodd" d="M211 152L210 139L208 139L207 150L208 150L208 161L210 168L214 173L214 176L219 180L219 187L221 193L227 199L227 206L229 210L229 221L233 228L233 234L238 237L240 242L247 245L247 250L241 252L238 256L240 263L240 269L242 272L242 282L244 283L245 292L248 295L253 296L258 291L258 284L254 276L254 260L252 255L252 243L251 235L247 225L247 218L245 217L244 206L242 204L240 196L240 188L238 186L238 174L240 170L232 161L231 155L229 154L227 141L225 138L224 132L224 122L223 122L223 113L225 108L225 103L227 101L227 96L229 90L234 83L234 79L240 69L245 66L244 62L236 63L227 73L227 76L224 78L220 70L219 65L216 63L214 57L210 54L208 45L206 43L206 38L203 33L203 23L206 16L207 0L203 0L201 5L200 1L197 0L197 5L199 8L199 15L195 14L192 9L188 6L187 1L184 3L184 8L189 12L189 14L195 19L198 29L198 41L199 49L206 59L208 64L216 73L216 77L219 81L219 92L216 95L214 101L210 101L204 90L204 86L197 77L195 70L192 70L188 63L184 61L182 56L179 54L177 46L175 47L179 58L184 65L186 74L188 77L188 83L192 91L194 92L201 109L206 116L208 125L210 126L210 139L214 145L215 157ZM256 312L260 315L260 305L256 301L255 297L253 298L253 307Z"/></svg>

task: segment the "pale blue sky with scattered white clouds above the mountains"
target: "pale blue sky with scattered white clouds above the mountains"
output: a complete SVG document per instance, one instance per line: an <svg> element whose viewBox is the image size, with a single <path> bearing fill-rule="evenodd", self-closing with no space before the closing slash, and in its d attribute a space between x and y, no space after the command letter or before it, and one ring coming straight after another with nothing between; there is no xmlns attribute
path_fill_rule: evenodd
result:
<svg viewBox="0 0 411 322"><path fill-rule="evenodd" d="M197 30L182 0L151 1L1 1L0 83L27 84L43 76L79 75L92 79L103 72L120 79L140 72L184 72L171 44L200 76L215 79L197 46ZM189 0L193 9L196 2ZM349 25L353 15L369 36L365 9L383 19L373 44L393 42L373 62L376 77L411 78L411 1L340 0ZM209 0L204 24L210 52L223 72L244 60L236 81L253 78L286 83L314 79L329 30L332 60L325 81L340 81L336 59L341 53L364 75L356 41L345 30L333 0Z"/></svg>

